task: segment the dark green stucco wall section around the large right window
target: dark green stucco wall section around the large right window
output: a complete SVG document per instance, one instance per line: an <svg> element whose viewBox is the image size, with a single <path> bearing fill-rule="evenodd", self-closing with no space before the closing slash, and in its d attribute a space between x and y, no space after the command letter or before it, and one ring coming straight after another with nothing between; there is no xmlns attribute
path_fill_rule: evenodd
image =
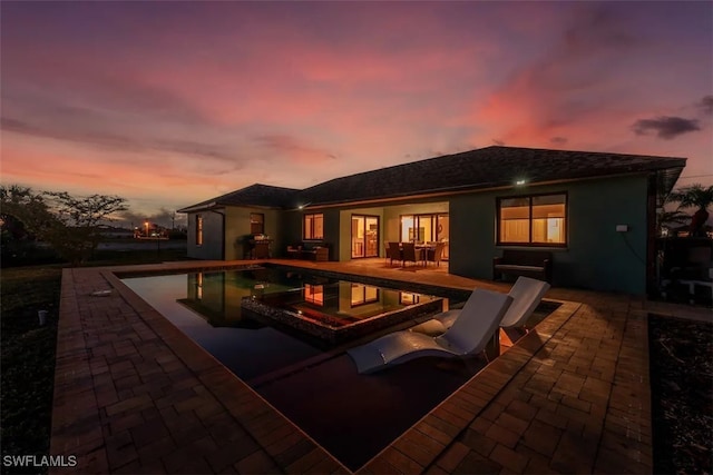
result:
<svg viewBox="0 0 713 475"><path fill-rule="evenodd" d="M546 248L553 253L553 284L645 294L644 176L455 196L450 201L450 273L492 278L492 258L506 248L496 246L496 198L563 191L568 195L568 241L565 248ZM617 232L616 225L627 225L629 230Z"/></svg>

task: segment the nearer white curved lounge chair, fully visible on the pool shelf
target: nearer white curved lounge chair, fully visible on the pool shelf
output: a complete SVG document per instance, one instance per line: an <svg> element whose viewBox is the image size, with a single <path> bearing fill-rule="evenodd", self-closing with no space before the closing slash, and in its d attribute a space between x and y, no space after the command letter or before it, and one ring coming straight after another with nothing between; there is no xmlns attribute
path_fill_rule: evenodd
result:
<svg viewBox="0 0 713 475"><path fill-rule="evenodd" d="M462 311L445 334L431 337L422 333L395 331L346 353L360 374L373 373L410 359L439 356L445 358L475 356L482 352L498 330L512 297L476 289Z"/></svg>

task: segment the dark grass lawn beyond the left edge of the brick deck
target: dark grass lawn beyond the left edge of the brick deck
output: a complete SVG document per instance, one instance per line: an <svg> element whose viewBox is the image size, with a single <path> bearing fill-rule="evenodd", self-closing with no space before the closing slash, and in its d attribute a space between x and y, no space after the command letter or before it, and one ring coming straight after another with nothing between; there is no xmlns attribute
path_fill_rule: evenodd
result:
<svg viewBox="0 0 713 475"><path fill-rule="evenodd" d="M152 264L182 260L185 249L97 251L88 265ZM61 264L3 268L0 273L0 407L2 456L49 455L57 317ZM38 310L48 310L39 325ZM12 473L38 473L39 468L11 468ZM43 469L47 472L47 469ZM2 467L2 473L8 467Z"/></svg>

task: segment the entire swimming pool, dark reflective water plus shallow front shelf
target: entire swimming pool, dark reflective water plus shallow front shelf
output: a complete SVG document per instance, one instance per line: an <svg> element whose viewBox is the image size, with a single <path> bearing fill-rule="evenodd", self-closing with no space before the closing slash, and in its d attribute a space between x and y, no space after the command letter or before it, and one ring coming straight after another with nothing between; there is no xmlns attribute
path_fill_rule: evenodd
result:
<svg viewBox="0 0 713 475"><path fill-rule="evenodd" d="M322 304L311 308L329 307L325 314L348 310L368 319L391 311L397 304L402 308L434 301L457 306L469 295L463 290L407 284L399 289L378 279L276 266L123 280L352 471L486 365L481 358L420 358L374 375L360 375L345 349L372 336L325 346L321 338L281 321L253 318L243 307L245 299L253 298L271 305L276 301L275 306L287 311L311 303ZM538 309L536 318L553 309ZM343 318L344 324L354 318ZM413 323L409 317L395 328ZM332 321L328 318L326 324Z"/></svg>

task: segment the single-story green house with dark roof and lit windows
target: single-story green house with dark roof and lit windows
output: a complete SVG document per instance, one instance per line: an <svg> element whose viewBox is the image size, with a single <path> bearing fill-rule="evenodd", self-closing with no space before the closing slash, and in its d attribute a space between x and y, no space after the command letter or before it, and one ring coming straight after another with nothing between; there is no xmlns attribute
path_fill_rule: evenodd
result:
<svg viewBox="0 0 713 475"><path fill-rule="evenodd" d="M448 271L492 278L506 249L546 249L553 284L642 295L655 286L656 210L685 158L487 147L335 178L250 187L183 208L188 256L241 259L265 237L384 257L387 241L445 241Z"/></svg>

